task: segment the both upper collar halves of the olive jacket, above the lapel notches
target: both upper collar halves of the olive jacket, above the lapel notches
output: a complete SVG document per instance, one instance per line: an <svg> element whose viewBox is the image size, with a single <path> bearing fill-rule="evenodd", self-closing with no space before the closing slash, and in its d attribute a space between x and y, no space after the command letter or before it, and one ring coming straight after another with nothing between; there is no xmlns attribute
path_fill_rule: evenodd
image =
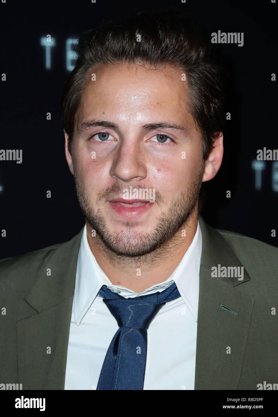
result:
<svg viewBox="0 0 278 417"><path fill-rule="evenodd" d="M221 234L205 223L199 215L202 233L201 266L211 274L211 268L221 266L242 267L241 262ZM56 251L47 258L41 267L41 274L36 283L25 296L24 300L36 311L49 309L61 301L73 296L76 277L77 259L82 238L81 231L70 241L61 244ZM51 269L51 276L47 276L47 269ZM237 277L216 278L223 283L237 286L249 281L250 276L244 270L244 279Z"/></svg>

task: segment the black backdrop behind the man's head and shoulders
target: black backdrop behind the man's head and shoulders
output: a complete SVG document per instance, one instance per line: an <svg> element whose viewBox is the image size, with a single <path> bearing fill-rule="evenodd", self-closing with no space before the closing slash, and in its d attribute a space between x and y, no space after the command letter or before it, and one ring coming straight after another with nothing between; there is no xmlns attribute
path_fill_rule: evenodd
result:
<svg viewBox="0 0 278 417"><path fill-rule="evenodd" d="M206 184L202 216L213 227L236 231L278 246L278 162L265 161L261 188L255 187L252 161L257 150L276 149L276 3L271 0L216 0L124 3L89 0L0 3L0 149L22 149L22 163L0 161L0 258L67 241L84 226L64 153L60 123L66 67L66 40L106 20L175 7L210 33L243 32L244 44L223 44L230 73L224 131L224 158L216 178ZM40 39L50 34L51 68ZM51 113L51 120L46 113ZM46 191L51 198L46 198ZM226 198L226 191L231 198Z"/></svg>

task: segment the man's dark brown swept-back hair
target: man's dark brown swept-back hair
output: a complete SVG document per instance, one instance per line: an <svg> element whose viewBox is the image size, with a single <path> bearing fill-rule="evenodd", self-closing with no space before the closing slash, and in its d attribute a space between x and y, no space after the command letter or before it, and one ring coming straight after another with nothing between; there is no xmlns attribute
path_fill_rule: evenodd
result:
<svg viewBox="0 0 278 417"><path fill-rule="evenodd" d="M137 41L137 35L141 41ZM138 13L84 32L77 45L77 62L62 95L62 124L72 150L74 118L92 66L136 64L163 68L172 65L186 74L189 111L201 132L203 158L223 130L223 74L218 45L198 23L176 10Z"/></svg>

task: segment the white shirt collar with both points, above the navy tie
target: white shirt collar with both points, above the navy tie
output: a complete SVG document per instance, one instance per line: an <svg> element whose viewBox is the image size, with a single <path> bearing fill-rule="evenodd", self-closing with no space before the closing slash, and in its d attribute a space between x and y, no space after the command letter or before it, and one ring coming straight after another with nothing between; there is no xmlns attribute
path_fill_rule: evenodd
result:
<svg viewBox="0 0 278 417"><path fill-rule="evenodd" d="M166 281L155 284L145 291L137 294L126 287L112 285L111 281L104 274L104 271L97 263L87 240L86 224L83 229L76 270L76 280L73 299L74 319L79 326L82 318L88 311L92 302L96 298L103 285L108 288L121 290L121 295L125 297L135 297L138 295L151 294L156 291L163 291L168 288L173 281L184 300L187 308L197 322L198 299L199 299L199 271L202 251L202 235L198 221L196 234L191 245L187 249L179 265L172 272Z"/></svg>

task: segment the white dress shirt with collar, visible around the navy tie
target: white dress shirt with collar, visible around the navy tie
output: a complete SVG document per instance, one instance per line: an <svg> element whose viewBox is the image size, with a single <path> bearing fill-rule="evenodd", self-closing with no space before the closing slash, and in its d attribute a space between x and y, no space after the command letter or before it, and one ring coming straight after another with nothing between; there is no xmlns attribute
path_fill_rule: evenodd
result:
<svg viewBox="0 0 278 417"><path fill-rule="evenodd" d="M194 389L201 250L198 221L189 249L169 278L137 294L112 285L92 254L84 227L77 261L65 389L96 389L107 349L119 329L98 295L103 285L127 298L163 291L173 282L181 296L168 301L147 330L143 389Z"/></svg>

